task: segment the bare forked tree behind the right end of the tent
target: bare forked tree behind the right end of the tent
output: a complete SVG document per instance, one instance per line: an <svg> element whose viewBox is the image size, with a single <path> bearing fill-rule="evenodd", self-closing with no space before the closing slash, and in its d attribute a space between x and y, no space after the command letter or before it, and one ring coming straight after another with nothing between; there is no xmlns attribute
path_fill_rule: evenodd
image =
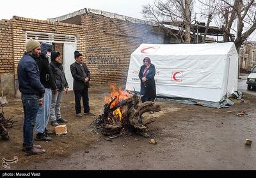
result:
<svg viewBox="0 0 256 178"><path fill-rule="evenodd" d="M239 52L243 41L256 29L255 0L201 0L200 2L205 6L216 8L214 19L223 29L223 41L234 41Z"/></svg>

